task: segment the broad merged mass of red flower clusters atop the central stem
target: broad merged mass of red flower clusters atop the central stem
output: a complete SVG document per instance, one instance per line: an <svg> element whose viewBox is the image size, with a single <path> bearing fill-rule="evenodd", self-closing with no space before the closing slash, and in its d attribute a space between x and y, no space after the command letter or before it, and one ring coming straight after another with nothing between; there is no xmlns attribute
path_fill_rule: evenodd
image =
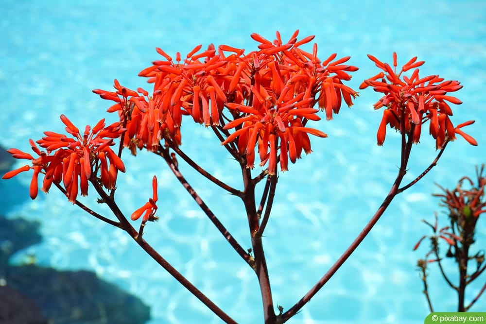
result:
<svg viewBox="0 0 486 324"><path fill-rule="evenodd" d="M248 54L227 45L217 49L210 45L197 53L199 45L183 61L177 53L175 62L157 48L163 60L139 73L154 83L152 96L141 88L138 93L126 89L116 80L116 92L94 92L117 102L108 111L120 112L128 130L124 144L133 153L136 147L154 150L166 136L180 144L182 116L190 115L207 127L236 128L223 144L235 141L250 168L258 142L260 165L269 161L269 173L275 174L278 152L281 169L287 170L289 157L295 162L302 150L311 152L308 134L327 136L305 127L309 119L320 119L315 115L319 110L312 108L316 103L332 119L343 99L351 106L357 96L343 84L351 78L347 72L358 69L344 64L349 57L333 61L336 54L332 54L322 62L315 44L312 53L299 48L314 36L297 41L297 35L298 31L283 44L278 33L273 43L252 34L260 50ZM232 118L224 115L225 108Z"/></svg>

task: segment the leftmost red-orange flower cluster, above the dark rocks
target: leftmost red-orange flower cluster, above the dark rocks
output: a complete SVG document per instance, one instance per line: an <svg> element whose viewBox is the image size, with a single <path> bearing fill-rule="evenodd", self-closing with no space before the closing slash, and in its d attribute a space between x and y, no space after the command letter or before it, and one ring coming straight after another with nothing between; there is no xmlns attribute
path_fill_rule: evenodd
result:
<svg viewBox="0 0 486 324"><path fill-rule="evenodd" d="M31 139L32 150L38 155L34 158L29 153L24 153L17 149L10 149L7 152L18 159L32 160L32 166L25 165L3 175L3 179L9 179L18 173L34 170L30 186L30 196L35 199L37 196L37 178L39 173L44 174L42 191L48 192L52 182L60 184L66 189L69 201L74 203L81 189L83 196L87 195L88 180L93 174L93 166L101 172L101 181L104 187L113 189L118 171L124 172L123 162L114 153L110 146L114 144L113 139L120 137L125 129L116 122L107 127L104 119L100 120L91 130L86 126L83 135L78 128L64 115L61 115L62 122L66 125L66 131L73 137L54 132L44 132L44 137L36 143L45 148L47 153L40 151ZM109 161L109 165L108 165Z"/></svg>

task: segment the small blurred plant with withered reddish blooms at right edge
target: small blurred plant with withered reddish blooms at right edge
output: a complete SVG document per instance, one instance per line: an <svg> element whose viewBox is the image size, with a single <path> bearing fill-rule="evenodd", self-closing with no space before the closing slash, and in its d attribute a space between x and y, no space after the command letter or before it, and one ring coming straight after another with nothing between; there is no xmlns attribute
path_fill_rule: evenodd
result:
<svg viewBox="0 0 486 324"><path fill-rule="evenodd" d="M447 284L457 293L458 307L461 312L468 311L483 294L486 286L483 283L479 283L479 287L472 289L476 290L476 296L473 298L465 298L466 288L481 274L484 274L486 270L485 265L485 251L483 246L477 246L474 249L473 245L477 239L477 223L481 214L486 212L486 200L485 200L485 186L486 177L484 176L485 165L481 168L476 168L477 181L473 181L469 177L461 178L457 186L452 189L446 189L439 186L442 189L442 193L434 194L436 197L441 198L441 206L447 208L445 212L447 214L448 226L438 229L437 213L435 213L435 223L432 225L429 222L425 222L432 228L432 235L424 235L415 245L414 250L417 250L420 243L428 238L430 239L430 249L426 253L425 258L417 260L417 268L421 273L421 280L423 281L424 290L423 293L429 304L431 312L434 312L432 307L431 295L429 294L427 283L428 281L428 268L429 264L436 264L440 270L440 274L447 282ZM448 244L447 252L443 253L439 246L439 241L444 240ZM476 252L474 252L476 250ZM447 259L452 259L456 265L456 273L451 271L445 272L444 262ZM475 262L474 262L475 261ZM475 265L474 265L475 263ZM457 276L459 280L451 280L451 274ZM480 287L483 288L480 288ZM466 304L466 300L469 299L469 304Z"/></svg>

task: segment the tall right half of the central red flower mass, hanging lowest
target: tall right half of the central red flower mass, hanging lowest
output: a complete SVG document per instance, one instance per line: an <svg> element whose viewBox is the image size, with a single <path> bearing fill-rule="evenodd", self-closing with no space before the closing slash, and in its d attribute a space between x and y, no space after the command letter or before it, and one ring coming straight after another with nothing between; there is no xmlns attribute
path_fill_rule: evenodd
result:
<svg viewBox="0 0 486 324"><path fill-rule="evenodd" d="M289 158L295 163L302 150L312 152L309 134L327 137L322 131L305 127L309 120L320 119L315 104L325 110L329 120L339 112L342 99L351 106L352 98L357 96L343 84L351 78L347 72L358 69L343 64L349 57L333 61L336 54L332 54L321 62L315 44L312 53L299 48L314 36L297 41L297 35L298 31L283 44L278 32L274 42L252 34L260 42L260 51L243 56L243 50L233 50L239 56L232 62L235 68L227 78L228 88L224 88L227 98L232 99L226 107L236 119L224 126L235 131L222 144L234 141L239 152L246 155L248 168L254 167L258 147L260 166L268 162L271 175L276 173L278 157L280 170L286 171Z"/></svg>

